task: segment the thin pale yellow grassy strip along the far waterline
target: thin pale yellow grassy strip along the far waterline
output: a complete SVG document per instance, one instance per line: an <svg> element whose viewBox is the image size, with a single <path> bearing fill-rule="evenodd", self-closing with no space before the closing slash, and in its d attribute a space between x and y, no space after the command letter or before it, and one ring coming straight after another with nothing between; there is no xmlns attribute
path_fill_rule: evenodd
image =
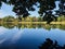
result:
<svg viewBox="0 0 65 49"><path fill-rule="evenodd" d="M13 24L47 24L47 22L2 22ZM51 22L50 24L65 24L65 22Z"/></svg>

